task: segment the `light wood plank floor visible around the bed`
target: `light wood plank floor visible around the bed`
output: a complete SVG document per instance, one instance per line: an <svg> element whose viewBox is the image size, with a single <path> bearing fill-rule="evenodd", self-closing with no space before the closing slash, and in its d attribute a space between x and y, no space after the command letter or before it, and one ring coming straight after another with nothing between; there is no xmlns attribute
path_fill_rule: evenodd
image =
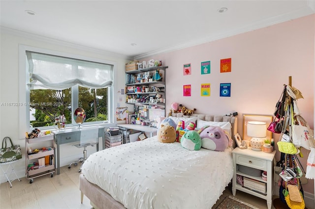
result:
<svg viewBox="0 0 315 209"><path fill-rule="evenodd" d="M80 202L79 190L79 166L67 166L61 168L60 175L57 172L53 178L50 175L30 180L21 178L21 182L15 180L10 188L9 183L0 184L0 209L92 209L90 200L85 196L83 204ZM217 201L216 206L224 197L232 195L229 185ZM255 196L237 191L235 198L243 200L259 209L267 209L266 201ZM274 208L274 207L272 207Z"/></svg>

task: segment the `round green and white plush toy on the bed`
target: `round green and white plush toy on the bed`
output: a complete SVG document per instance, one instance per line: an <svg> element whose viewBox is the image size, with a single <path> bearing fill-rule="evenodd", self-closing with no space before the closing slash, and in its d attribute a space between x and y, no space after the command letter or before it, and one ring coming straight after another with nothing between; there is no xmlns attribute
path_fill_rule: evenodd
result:
<svg viewBox="0 0 315 209"><path fill-rule="evenodd" d="M197 131L187 131L181 139L181 145L188 150L200 150L201 138Z"/></svg>

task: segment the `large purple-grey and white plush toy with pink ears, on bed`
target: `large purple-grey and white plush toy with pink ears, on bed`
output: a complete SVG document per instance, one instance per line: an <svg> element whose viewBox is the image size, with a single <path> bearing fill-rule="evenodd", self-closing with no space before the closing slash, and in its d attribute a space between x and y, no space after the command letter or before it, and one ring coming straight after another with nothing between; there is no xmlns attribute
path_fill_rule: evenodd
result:
<svg viewBox="0 0 315 209"><path fill-rule="evenodd" d="M233 141L229 133L218 126L204 126L199 131L201 146L208 150L224 151Z"/></svg>

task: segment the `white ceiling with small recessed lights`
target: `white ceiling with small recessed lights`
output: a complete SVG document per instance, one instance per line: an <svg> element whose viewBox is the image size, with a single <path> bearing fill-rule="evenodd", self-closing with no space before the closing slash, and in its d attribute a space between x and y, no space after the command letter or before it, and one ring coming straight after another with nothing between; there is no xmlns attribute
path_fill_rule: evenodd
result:
<svg viewBox="0 0 315 209"><path fill-rule="evenodd" d="M0 0L0 9L2 29L139 58L314 14L315 1Z"/></svg>

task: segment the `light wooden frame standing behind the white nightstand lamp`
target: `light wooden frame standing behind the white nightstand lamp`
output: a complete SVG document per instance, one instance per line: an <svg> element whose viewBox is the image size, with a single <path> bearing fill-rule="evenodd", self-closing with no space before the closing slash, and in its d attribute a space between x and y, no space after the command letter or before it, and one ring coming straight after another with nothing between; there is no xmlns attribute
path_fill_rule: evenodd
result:
<svg viewBox="0 0 315 209"><path fill-rule="evenodd" d="M266 123L266 138L272 138L272 132L267 130L269 124L273 121L272 115L251 115L251 114L244 114L243 115L243 140L250 141L252 137L247 135L247 123L249 121L260 121Z"/></svg>

